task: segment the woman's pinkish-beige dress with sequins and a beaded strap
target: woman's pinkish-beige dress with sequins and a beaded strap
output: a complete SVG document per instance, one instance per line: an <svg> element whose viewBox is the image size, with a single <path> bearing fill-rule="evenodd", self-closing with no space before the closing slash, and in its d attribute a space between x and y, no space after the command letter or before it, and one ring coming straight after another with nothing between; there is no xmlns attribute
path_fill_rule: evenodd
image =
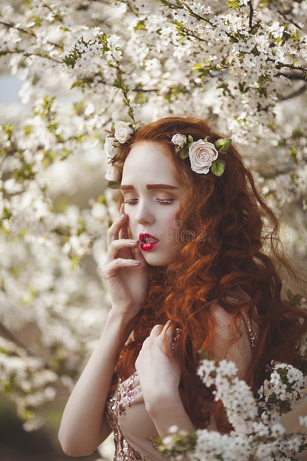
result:
<svg viewBox="0 0 307 461"><path fill-rule="evenodd" d="M253 351L256 338L251 321L243 315ZM181 395L183 391L179 389ZM114 461L165 461L158 451L156 426L146 411L138 372L119 380L115 393L106 400L106 419L114 432Z"/></svg>

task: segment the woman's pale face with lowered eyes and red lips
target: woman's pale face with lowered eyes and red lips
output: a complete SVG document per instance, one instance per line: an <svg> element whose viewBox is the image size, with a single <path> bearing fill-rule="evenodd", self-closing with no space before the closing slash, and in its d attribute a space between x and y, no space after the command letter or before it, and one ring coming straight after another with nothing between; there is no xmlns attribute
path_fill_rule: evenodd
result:
<svg viewBox="0 0 307 461"><path fill-rule="evenodd" d="M152 266L167 264L176 254L180 229L175 221L182 186L163 145L139 141L131 148L123 166L120 190L128 227L132 238L140 240L146 262ZM150 234L159 241L143 243L141 234Z"/></svg>

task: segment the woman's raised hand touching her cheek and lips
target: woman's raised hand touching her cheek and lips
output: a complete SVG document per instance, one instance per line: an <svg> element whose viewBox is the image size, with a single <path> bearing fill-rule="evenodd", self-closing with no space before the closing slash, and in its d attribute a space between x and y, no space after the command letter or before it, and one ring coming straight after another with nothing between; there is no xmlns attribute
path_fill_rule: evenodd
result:
<svg viewBox="0 0 307 461"><path fill-rule="evenodd" d="M119 214L124 213L121 204ZM127 238L127 215L118 218L107 232L107 255L102 277L112 299L112 308L131 320L144 307L148 291L148 264L138 248ZM131 248L134 248L136 260Z"/></svg>

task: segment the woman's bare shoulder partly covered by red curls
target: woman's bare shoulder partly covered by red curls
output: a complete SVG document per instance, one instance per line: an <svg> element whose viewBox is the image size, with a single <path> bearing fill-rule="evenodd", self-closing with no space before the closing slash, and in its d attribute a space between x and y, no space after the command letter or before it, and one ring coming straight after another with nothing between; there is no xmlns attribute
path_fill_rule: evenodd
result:
<svg viewBox="0 0 307 461"><path fill-rule="evenodd" d="M216 327L214 334L214 358L230 360L238 367L238 377L244 379L246 370L252 360L250 340L243 318L231 326L231 315L218 303L211 308Z"/></svg>

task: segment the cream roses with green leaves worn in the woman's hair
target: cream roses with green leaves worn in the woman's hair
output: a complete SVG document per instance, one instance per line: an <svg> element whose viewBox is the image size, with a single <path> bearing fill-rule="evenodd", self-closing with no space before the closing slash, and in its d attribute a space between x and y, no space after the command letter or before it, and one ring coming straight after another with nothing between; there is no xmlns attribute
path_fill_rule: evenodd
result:
<svg viewBox="0 0 307 461"><path fill-rule="evenodd" d="M121 170L117 163L123 162L121 152L135 134L137 125L129 122L116 121L112 123L111 131L105 138L104 150L108 162L105 178L109 181L108 187L118 188L120 186ZM106 130L107 131L107 130ZM189 157L191 169L195 173L206 175L211 171L215 176L222 176L225 171L226 162L218 157L219 152L227 152L231 144L230 138L220 138L212 144L208 142L209 136L198 141L193 141L192 136L185 136L176 133L171 138L175 145L175 152L184 159Z"/></svg>

